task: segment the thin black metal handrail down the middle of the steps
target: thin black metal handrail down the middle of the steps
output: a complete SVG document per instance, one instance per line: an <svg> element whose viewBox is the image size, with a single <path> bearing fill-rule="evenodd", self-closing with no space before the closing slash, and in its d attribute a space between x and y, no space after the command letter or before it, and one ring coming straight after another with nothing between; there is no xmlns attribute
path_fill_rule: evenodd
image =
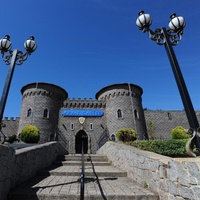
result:
<svg viewBox="0 0 200 200"><path fill-rule="evenodd" d="M82 136L82 151L81 151L82 169L80 176L80 200L84 200L84 190L85 190L85 158L84 158L84 140Z"/></svg>

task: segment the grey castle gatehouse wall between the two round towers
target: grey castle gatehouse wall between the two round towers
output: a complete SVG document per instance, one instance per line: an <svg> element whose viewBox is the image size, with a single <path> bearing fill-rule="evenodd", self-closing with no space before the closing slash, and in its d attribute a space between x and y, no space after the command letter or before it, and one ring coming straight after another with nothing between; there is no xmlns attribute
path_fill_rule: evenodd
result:
<svg viewBox="0 0 200 200"><path fill-rule="evenodd" d="M65 117L61 113L63 110L102 110L105 113L105 102L99 102L92 99L67 99L64 101L60 109L59 122L58 122L58 141L68 149L71 153L75 153L75 138L76 134L83 130L89 140L91 152L95 153L99 149L99 141L101 137L108 138L108 132L104 131L106 127L106 114L102 117L85 117L85 122L80 124L79 117ZM107 140L106 140L107 141ZM106 142L105 141L105 142ZM104 142L104 143L105 143Z"/></svg>

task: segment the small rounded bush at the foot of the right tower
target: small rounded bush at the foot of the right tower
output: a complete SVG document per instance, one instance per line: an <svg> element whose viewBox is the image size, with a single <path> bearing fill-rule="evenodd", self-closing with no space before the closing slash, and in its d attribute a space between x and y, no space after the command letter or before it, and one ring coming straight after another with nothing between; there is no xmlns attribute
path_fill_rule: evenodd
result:
<svg viewBox="0 0 200 200"><path fill-rule="evenodd" d="M116 137L119 141L129 142L137 139L136 132L131 128L121 128L117 131Z"/></svg>

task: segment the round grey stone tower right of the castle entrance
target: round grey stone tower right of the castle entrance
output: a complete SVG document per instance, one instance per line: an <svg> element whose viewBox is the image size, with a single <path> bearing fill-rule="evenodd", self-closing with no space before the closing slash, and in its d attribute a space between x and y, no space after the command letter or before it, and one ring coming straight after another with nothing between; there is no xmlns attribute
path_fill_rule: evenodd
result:
<svg viewBox="0 0 200 200"><path fill-rule="evenodd" d="M147 139L147 129L142 108L141 87L129 84L113 84L96 93L96 99L106 102L106 120L110 136L120 128L132 128L138 139Z"/></svg>

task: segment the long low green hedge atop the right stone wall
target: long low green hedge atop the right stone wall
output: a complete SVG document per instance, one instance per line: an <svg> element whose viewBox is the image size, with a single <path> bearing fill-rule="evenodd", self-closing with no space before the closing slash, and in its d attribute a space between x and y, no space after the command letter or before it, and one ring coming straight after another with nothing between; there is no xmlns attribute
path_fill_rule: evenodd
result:
<svg viewBox="0 0 200 200"><path fill-rule="evenodd" d="M126 144L165 156L187 157L185 149L187 141L187 139L136 140L134 142L127 142Z"/></svg>

